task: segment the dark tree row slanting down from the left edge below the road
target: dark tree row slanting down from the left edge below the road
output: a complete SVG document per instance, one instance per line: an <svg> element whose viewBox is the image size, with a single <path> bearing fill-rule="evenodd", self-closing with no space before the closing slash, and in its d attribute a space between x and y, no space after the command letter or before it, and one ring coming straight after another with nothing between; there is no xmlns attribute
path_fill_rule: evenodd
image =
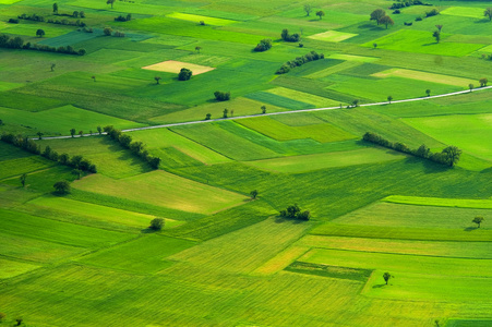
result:
<svg viewBox="0 0 492 327"><path fill-rule="evenodd" d="M0 140L23 148L32 154L40 155L46 159L57 161L61 165L73 167L86 172L97 172L96 165L92 164L88 159L82 156L70 157L68 154L59 155L56 150L51 149L50 146L46 146L41 152L40 146L28 137L15 136L12 133L5 133L0 136Z"/></svg>

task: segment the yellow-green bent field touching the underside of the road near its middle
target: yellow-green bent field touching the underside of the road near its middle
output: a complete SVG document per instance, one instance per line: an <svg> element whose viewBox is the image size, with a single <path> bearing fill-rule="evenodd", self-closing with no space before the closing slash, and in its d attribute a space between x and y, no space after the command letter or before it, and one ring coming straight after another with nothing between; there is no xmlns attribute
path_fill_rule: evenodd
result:
<svg viewBox="0 0 492 327"><path fill-rule="evenodd" d="M296 117L298 114L292 116ZM355 135L328 123L289 126L271 117L241 119L238 120L238 123L277 141L312 138L317 142L326 143L355 138Z"/></svg>

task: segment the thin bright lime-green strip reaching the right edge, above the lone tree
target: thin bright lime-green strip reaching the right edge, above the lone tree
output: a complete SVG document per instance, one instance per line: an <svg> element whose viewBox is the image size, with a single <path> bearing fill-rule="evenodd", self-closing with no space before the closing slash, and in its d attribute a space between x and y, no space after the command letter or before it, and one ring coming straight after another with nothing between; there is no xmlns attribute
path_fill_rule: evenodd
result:
<svg viewBox="0 0 492 327"><path fill-rule="evenodd" d="M440 197L389 195L381 201L418 206L492 209L492 199L440 198Z"/></svg>

